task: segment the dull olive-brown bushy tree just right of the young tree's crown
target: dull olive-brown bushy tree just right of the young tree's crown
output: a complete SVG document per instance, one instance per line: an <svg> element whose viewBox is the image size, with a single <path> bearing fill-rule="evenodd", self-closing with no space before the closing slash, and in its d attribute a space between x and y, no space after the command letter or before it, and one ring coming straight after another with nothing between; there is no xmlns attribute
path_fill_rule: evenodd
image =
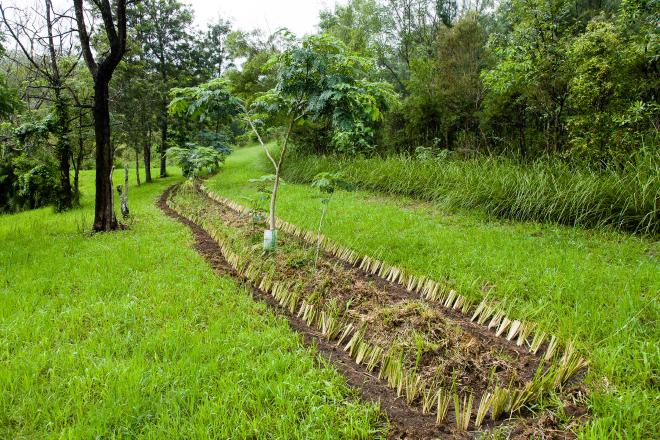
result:
<svg viewBox="0 0 660 440"><path fill-rule="evenodd" d="M487 39L482 20L470 13L438 32L431 57L411 59L408 95L399 112L388 119L389 149L474 148L466 145L464 134L475 133L480 126L478 109L484 95L480 72L491 64Z"/></svg>

